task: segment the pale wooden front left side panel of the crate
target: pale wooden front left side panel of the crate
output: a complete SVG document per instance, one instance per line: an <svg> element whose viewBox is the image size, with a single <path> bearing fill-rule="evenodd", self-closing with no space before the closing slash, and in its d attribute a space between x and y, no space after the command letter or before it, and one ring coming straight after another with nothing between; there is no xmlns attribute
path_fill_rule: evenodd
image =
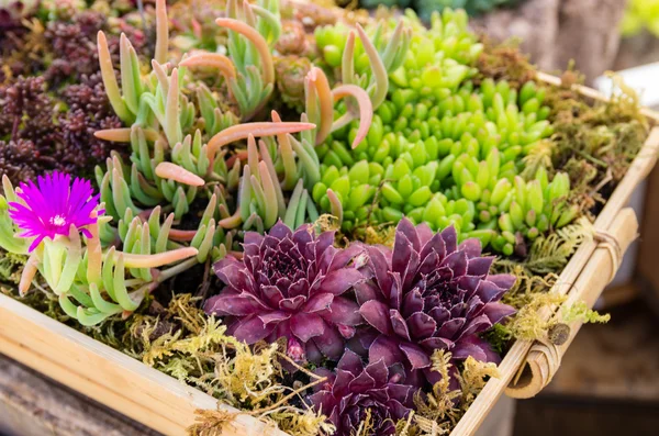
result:
<svg viewBox="0 0 659 436"><path fill-rule="evenodd" d="M0 353L168 435L185 434L197 409L217 407L212 396L1 294L0 337ZM167 422L178 427L168 429ZM238 414L224 432L230 436L283 435L245 414Z"/></svg>

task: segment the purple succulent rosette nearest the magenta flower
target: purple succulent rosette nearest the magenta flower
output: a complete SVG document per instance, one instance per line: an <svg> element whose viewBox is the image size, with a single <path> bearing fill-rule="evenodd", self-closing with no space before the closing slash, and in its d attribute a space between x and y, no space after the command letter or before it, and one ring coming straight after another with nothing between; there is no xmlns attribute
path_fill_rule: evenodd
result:
<svg viewBox="0 0 659 436"><path fill-rule="evenodd" d="M334 232L316 237L310 225L292 232L279 222L265 236L247 232L244 250L243 260L213 266L226 287L206 301L206 314L228 316L227 333L247 344L286 337L295 361L338 360L362 322L344 294L364 280L354 261L364 247L339 249Z"/></svg>

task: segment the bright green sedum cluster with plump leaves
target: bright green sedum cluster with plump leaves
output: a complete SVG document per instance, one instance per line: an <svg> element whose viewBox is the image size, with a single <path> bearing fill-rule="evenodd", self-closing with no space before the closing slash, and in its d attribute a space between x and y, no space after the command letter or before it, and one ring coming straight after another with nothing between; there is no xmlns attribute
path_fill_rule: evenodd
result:
<svg viewBox="0 0 659 436"><path fill-rule="evenodd" d="M366 138L350 148L353 123L316 147L322 177L312 197L320 210L340 215L345 232L403 216L434 230L454 224L461 239L478 237L505 255L569 223L576 212L565 204L566 175L520 176L524 158L552 133L545 89L481 80L472 66L482 45L461 11L434 14L428 30L411 14L404 22L413 29L407 55L390 72ZM316 31L331 65L343 56L343 32ZM339 105L335 116L345 111Z"/></svg>

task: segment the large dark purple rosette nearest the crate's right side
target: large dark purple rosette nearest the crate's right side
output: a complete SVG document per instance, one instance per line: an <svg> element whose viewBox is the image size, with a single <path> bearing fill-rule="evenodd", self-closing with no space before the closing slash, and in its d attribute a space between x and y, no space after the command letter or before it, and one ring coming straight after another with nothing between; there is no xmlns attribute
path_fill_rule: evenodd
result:
<svg viewBox="0 0 659 436"><path fill-rule="evenodd" d="M458 246L455 228L434 234L425 225L403 219L393 250L367 246L369 260L362 268L370 279L357 283L359 312L370 328L360 328L355 349L368 350L370 361L382 359L393 368L403 362L406 383L421 385L431 371L436 349L454 359L472 356L499 362L500 357L478 334L515 311L499 303L514 284L511 275L490 275L493 257L481 257L478 239Z"/></svg>

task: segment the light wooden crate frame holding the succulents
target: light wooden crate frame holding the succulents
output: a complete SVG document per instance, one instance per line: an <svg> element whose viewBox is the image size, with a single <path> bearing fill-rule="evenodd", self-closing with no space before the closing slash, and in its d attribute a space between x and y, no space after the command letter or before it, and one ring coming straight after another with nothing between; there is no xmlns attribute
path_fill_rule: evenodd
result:
<svg viewBox="0 0 659 436"><path fill-rule="evenodd" d="M554 85L559 80L546 75L538 77ZM588 98L602 99L601 94L590 88L579 87L579 90ZM656 119L649 111L646 114ZM618 258L637 232L636 216L630 210L624 210L624 206L634 188L655 165L658 150L659 127L655 127L595 221L595 230L602 237L582 244L561 273L555 288L557 292L569 295L566 304L584 300L592 305L617 270ZM548 318L552 313L552 309L547 308L544 316ZM521 367L527 370L516 384L507 389L507 393L517 398L537 393L556 371L560 356L580 325L576 323L570 327L570 337L561 347L516 342L500 366L501 377L491 379L485 384L451 435L472 435ZM212 396L2 294L0 353L166 435L185 435L186 427L194 422L194 411L198 409L220 407L237 412L231 406L219 404ZM238 414L224 428L223 435L286 434L252 416Z"/></svg>

